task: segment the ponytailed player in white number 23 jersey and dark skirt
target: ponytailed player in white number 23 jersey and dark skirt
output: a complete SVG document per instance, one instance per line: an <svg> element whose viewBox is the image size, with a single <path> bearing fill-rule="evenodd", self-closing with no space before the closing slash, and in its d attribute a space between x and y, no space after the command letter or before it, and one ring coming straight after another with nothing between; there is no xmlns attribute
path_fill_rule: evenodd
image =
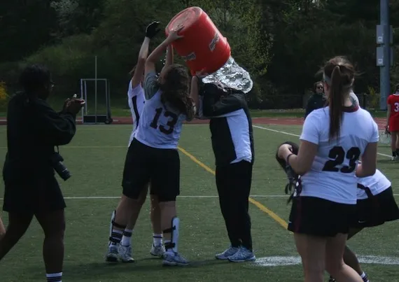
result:
<svg viewBox="0 0 399 282"><path fill-rule="evenodd" d="M329 106L307 116L297 155L288 144L279 147L279 158L302 175L288 230L294 232L306 282L322 282L325 269L338 281L363 282L343 255L356 216L353 176L375 173L378 127L370 113L351 102L354 74L344 57L330 59L323 68ZM363 163L356 166L360 155Z"/></svg>

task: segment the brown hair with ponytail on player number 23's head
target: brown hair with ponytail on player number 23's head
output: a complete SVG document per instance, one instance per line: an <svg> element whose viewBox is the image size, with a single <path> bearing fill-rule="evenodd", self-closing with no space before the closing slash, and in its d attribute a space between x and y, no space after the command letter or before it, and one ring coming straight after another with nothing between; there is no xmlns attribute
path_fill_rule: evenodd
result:
<svg viewBox="0 0 399 282"><path fill-rule="evenodd" d="M349 94L355 77L355 69L346 57L333 57L322 69L324 82L330 87L330 140L337 137L342 123L344 101Z"/></svg>

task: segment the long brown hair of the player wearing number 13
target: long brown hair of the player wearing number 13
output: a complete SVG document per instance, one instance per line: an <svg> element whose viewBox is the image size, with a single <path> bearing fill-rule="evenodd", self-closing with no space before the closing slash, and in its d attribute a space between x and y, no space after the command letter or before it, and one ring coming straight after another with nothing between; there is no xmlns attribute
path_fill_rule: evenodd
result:
<svg viewBox="0 0 399 282"><path fill-rule="evenodd" d="M165 77L160 83L161 101L171 104L176 110L187 116L194 117L194 102L189 96L190 76L181 64L171 64L165 69Z"/></svg>

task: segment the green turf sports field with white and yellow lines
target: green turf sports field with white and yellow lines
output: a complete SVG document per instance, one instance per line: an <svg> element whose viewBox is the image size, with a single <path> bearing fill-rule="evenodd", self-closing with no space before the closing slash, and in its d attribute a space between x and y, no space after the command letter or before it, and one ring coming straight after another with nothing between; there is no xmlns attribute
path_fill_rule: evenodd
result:
<svg viewBox="0 0 399 282"><path fill-rule="evenodd" d="M255 121L255 120L254 120ZM255 121L256 122L256 121ZM282 141L297 141L301 127L255 125L255 168L251 190L254 263L219 262L214 254L228 246L214 181L214 155L208 125L184 125L180 142L180 251L192 261L184 268L166 268L150 258L152 244L149 203L134 231L132 265L106 265L109 218L118 203L130 125L84 125L60 152L73 176L62 184L66 204L66 253L63 281L303 281L293 236L286 230L290 206L283 194L286 176L274 160ZM0 160L6 154L6 127L0 127ZM379 148L381 171L399 187L398 163L390 149ZM394 190L399 193L398 190ZM3 183L0 184L3 195ZM0 196L1 197L1 196ZM399 200L399 197L397 197ZM6 214L2 215L3 218ZM36 221L0 262L0 281L45 281L41 258L43 232ZM399 281L399 227L387 223L365 230L349 242L362 256L363 268L375 282ZM283 257L283 258L278 258ZM290 258L293 257L293 258Z"/></svg>

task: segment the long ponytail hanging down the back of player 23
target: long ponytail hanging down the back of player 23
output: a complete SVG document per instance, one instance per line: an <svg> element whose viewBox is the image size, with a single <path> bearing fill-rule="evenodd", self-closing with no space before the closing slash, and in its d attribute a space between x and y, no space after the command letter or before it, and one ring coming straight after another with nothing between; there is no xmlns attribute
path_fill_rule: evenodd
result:
<svg viewBox="0 0 399 282"><path fill-rule="evenodd" d="M327 78L327 77L325 77ZM328 78L326 79L328 80ZM339 66L335 66L332 70L330 79L330 95L328 97L328 104L330 106L330 140L339 139L339 132L342 122L342 105L344 104L344 95L342 92L344 87L342 85L342 73Z"/></svg>

